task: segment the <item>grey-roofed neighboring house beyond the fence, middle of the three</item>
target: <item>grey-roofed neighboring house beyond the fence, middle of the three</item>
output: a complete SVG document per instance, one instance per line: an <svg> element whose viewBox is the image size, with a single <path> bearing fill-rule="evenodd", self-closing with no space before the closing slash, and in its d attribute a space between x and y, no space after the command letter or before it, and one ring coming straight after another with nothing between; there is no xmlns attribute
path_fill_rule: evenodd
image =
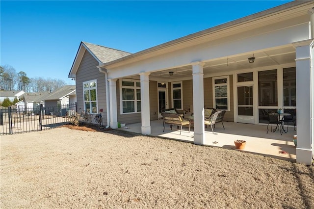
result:
<svg viewBox="0 0 314 209"><path fill-rule="evenodd" d="M35 92L35 93L25 93L23 95L23 100L18 102L17 108L19 111L31 111L33 108L37 108L39 104L44 104L44 98L49 94L49 91L45 92Z"/></svg>

